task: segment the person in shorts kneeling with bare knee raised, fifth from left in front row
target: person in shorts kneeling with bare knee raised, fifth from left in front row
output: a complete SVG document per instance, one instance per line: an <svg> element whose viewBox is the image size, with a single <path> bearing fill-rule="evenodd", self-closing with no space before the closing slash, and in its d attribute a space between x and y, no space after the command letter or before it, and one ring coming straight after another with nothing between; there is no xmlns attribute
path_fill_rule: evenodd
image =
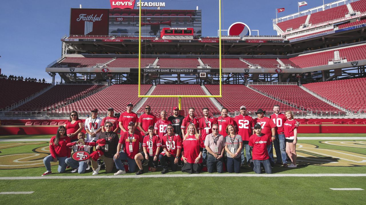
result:
<svg viewBox="0 0 366 205"><path fill-rule="evenodd" d="M146 135L145 138L143 138L143 151L135 155L135 161L139 168L136 175L143 173L141 160L149 160L147 166L150 167L152 172L156 171L158 167L161 140L159 136L154 134L153 125L150 125L147 130L149 131L149 134Z"/></svg>

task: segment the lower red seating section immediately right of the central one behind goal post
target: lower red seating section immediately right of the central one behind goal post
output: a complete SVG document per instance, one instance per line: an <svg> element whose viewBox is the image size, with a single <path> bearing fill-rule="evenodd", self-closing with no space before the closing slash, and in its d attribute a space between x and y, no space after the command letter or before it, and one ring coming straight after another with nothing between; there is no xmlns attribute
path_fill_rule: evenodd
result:
<svg viewBox="0 0 366 205"><path fill-rule="evenodd" d="M205 87L211 94L219 94L219 85L205 85ZM297 110L296 108L281 104L279 101L255 92L244 85L225 84L222 87L222 93L223 97L216 98L216 100L219 101L223 107L228 108L229 112L239 111L239 108L242 105L245 105L247 111L251 113L257 111L259 108L270 113L272 112L273 105L276 104L280 104L282 110Z"/></svg>

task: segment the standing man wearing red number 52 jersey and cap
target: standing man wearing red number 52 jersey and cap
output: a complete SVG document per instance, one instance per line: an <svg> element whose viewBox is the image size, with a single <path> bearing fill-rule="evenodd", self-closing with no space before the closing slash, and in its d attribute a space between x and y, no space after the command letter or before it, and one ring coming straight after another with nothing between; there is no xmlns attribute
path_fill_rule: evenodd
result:
<svg viewBox="0 0 366 205"><path fill-rule="evenodd" d="M245 155L247 158L247 165L251 166L253 163L250 147L249 147L249 137L254 134L254 120L251 116L247 115L247 108L242 105L240 107L240 115L235 116L234 118L235 125L238 127L238 135L242 136L243 140L243 151L242 151L242 166L244 165L244 147L245 147Z"/></svg>

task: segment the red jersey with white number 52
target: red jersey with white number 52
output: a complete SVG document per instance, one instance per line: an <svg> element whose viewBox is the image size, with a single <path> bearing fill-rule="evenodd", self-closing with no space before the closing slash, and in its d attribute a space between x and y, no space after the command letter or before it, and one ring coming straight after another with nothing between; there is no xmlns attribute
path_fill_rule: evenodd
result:
<svg viewBox="0 0 366 205"><path fill-rule="evenodd" d="M238 126L238 135L242 136L243 141L249 141L253 135L254 120L251 116L237 115L234 118L236 126Z"/></svg>

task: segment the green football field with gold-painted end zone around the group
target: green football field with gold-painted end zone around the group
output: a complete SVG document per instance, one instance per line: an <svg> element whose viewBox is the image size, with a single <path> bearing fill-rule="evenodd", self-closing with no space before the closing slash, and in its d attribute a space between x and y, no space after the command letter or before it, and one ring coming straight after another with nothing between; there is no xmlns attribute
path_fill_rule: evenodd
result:
<svg viewBox="0 0 366 205"><path fill-rule="evenodd" d="M366 200L365 134L299 134L298 167L275 166L273 174L255 174L244 166L240 174L176 171L162 175L159 167L156 173L139 176L114 176L104 170L93 176L91 169L84 174L70 173L71 169L59 174L55 163L53 174L41 177L42 160L49 154L44 140L49 138L0 136L1 205L365 204Z"/></svg>

